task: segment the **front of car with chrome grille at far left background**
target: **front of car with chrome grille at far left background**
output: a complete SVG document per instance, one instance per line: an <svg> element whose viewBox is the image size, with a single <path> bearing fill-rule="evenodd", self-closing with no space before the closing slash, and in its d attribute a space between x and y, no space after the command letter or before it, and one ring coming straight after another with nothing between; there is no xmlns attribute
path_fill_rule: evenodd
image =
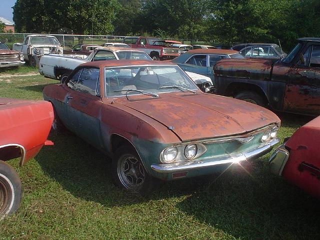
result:
<svg viewBox="0 0 320 240"><path fill-rule="evenodd" d="M0 67L20 66L25 63L22 52L10 50L0 42Z"/></svg>

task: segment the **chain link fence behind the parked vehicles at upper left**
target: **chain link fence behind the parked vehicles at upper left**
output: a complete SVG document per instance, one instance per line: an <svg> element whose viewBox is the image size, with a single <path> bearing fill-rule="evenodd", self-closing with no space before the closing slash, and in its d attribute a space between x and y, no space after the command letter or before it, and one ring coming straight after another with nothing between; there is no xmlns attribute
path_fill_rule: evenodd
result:
<svg viewBox="0 0 320 240"><path fill-rule="evenodd" d="M27 35L40 34L40 33L0 33L0 41L4 42L10 49L12 44L19 42L22 43ZM114 35L70 35L70 34L48 34L55 36L64 49L70 49L75 44L98 44L102 45L106 42L122 42L125 36Z"/></svg>

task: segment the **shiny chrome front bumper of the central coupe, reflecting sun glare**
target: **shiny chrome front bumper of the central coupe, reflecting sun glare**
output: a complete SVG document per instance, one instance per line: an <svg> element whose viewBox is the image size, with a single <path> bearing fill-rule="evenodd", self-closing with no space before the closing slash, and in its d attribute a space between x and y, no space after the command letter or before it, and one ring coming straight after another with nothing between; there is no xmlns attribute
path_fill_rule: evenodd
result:
<svg viewBox="0 0 320 240"><path fill-rule="evenodd" d="M215 156L210 157L210 160L191 160L191 161L181 161L168 164L152 164L151 169L160 173L172 173L176 171L187 171L203 167L211 167L219 164L235 163L250 158L258 158L259 156L267 153L271 150L272 146L279 142L278 138L274 138L268 143L261 144L256 148L250 149L247 152L229 154L227 157Z"/></svg>

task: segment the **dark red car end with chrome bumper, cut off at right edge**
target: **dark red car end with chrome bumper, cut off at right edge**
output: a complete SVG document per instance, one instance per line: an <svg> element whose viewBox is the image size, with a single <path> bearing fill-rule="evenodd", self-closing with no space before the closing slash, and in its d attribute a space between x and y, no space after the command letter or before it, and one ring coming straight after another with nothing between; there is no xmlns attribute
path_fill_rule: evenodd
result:
<svg viewBox="0 0 320 240"><path fill-rule="evenodd" d="M320 198L320 116L298 128L272 153L270 170Z"/></svg>

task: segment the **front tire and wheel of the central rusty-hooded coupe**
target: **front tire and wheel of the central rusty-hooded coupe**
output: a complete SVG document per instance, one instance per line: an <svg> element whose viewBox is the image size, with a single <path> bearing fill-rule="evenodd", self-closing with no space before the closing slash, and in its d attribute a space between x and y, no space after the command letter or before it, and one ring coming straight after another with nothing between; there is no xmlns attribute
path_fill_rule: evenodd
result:
<svg viewBox="0 0 320 240"><path fill-rule="evenodd" d="M154 178L146 172L131 145L120 146L115 150L111 168L114 183L127 191L146 194L154 186Z"/></svg>

